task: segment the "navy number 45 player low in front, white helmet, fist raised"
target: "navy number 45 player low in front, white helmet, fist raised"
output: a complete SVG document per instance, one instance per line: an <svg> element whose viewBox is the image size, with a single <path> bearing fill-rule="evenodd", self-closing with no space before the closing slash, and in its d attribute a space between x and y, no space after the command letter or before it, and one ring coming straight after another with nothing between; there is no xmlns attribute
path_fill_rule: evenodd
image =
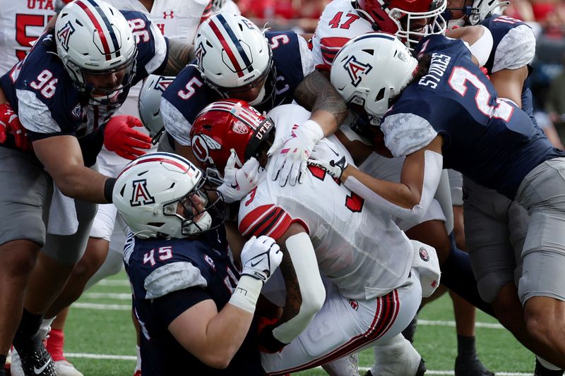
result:
<svg viewBox="0 0 565 376"><path fill-rule="evenodd" d="M253 237L240 274L222 202L205 183L187 159L157 152L128 164L114 187L114 205L131 229L124 264L143 375L263 375L252 320L283 254L272 238Z"/></svg>

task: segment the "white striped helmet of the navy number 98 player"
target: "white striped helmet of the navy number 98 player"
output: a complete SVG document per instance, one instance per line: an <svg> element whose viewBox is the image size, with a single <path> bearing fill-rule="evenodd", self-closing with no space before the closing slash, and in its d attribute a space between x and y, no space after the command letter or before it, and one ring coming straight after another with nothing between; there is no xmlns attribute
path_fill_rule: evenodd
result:
<svg viewBox="0 0 565 376"><path fill-rule="evenodd" d="M119 87L96 88L108 96L131 83L136 40L126 18L104 1L76 0L64 6L55 24L55 41L57 54L79 91L90 94L95 89L87 83L85 74L105 75L124 70Z"/></svg>

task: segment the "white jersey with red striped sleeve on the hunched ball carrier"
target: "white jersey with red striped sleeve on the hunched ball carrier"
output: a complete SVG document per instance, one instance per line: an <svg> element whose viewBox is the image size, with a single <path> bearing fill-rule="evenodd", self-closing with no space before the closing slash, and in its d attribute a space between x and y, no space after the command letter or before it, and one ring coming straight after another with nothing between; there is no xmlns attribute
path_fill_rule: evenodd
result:
<svg viewBox="0 0 565 376"><path fill-rule="evenodd" d="M268 116L277 132L290 132L310 113L295 104L277 107ZM350 154L337 138L321 140L326 147ZM274 158L266 166L273 168ZM414 251L403 231L385 212L375 211L364 200L335 181L325 171L309 166L302 184L280 187L266 179L239 205L239 231L246 236L268 235L277 239L290 224L302 224L316 251L320 272L352 299L382 296L405 284Z"/></svg>

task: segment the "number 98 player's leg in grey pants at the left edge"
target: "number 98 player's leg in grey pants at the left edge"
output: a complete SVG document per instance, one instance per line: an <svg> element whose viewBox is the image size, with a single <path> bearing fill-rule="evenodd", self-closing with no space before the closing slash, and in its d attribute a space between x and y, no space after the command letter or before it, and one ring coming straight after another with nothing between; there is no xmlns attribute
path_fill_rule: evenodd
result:
<svg viewBox="0 0 565 376"><path fill-rule="evenodd" d="M53 184L28 154L1 147L0 160L0 370L4 370L14 336L31 337L41 324L40 315L23 309L24 291L45 241ZM22 317L28 320L22 323ZM40 344L23 339L16 343L23 351L40 351Z"/></svg>

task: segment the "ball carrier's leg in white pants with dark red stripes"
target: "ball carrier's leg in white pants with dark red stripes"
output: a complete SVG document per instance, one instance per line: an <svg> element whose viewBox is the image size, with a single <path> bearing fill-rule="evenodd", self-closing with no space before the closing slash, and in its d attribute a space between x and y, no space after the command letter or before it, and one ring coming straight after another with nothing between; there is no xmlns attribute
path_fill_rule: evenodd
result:
<svg viewBox="0 0 565 376"><path fill-rule="evenodd" d="M412 320L422 298L414 273L405 286L366 301L343 298L331 284L326 284L326 289L326 302L304 332L280 353L261 353L261 363L269 374L314 368L372 347L376 341L390 341ZM399 362L396 375L415 375L420 356L416 360L415 367ZM408 368L414 372L407 373Z"/></svg>

